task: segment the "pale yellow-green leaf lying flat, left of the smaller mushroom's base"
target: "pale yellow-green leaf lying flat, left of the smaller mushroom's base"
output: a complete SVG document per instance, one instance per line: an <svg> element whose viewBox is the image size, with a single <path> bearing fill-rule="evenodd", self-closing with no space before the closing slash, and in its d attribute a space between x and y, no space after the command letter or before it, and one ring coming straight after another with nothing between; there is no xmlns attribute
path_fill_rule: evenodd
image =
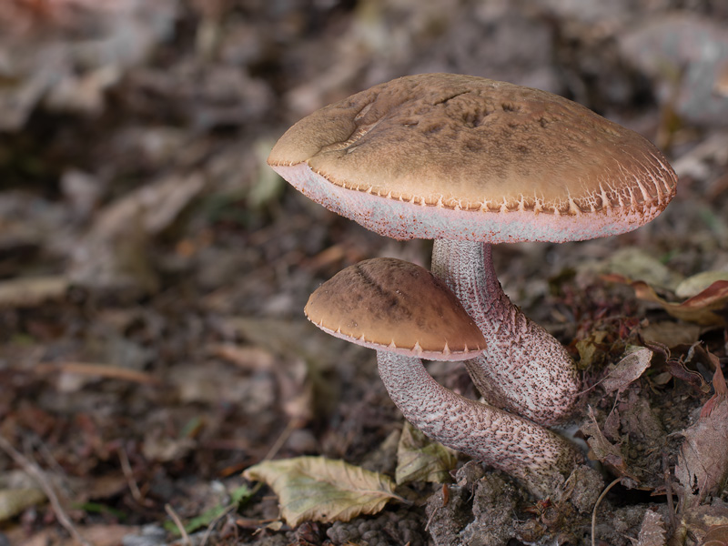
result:
<svg viewBox="0 0 728 546"><path fill-rule="evenodd" d="M291 527L303 521L349 521L381 511L390 499L400 499L388 476L324 457L268 460L243 476L265 481L275 491L280 516Z"/></svg>

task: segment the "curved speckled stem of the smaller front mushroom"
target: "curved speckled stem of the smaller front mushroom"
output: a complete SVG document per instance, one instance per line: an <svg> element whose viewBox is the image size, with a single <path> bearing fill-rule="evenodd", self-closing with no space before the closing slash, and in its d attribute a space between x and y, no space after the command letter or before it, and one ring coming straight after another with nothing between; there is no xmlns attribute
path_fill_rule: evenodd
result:
<svg viewBox="0 0 728 546"><path fill-rule="evenodd" d="M547 497L581 455L568 440L432 379L420 359L377 352L379 376L406 420L441 444L511 474Z"/></svg>

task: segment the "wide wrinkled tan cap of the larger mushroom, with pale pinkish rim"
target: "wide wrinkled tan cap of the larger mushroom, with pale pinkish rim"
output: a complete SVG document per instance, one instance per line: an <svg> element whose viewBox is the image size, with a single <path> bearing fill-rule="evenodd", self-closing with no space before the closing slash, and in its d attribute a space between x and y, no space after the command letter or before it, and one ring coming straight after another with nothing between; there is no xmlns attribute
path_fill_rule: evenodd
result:
<svg viewBox="0 0 728 546"><path fill-rule="evenodd" d="M268 164L381 235L566 241L656 217L676 177L644 137L561 96L451 74L404 76L326 106Z"/></svg>

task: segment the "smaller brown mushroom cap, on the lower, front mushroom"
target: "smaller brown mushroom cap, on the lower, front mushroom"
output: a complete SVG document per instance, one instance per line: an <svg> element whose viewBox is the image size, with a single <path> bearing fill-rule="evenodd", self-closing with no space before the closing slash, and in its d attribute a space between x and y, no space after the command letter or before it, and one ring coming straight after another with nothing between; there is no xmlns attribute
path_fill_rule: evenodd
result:
<svg viewBox="0 0 728 546"><path fill-rule="evenodd" d="M432 360L471 359L485 349L480 329L430 271L373 258L339 271L304 309L333 336L371 349Z"/></svg>

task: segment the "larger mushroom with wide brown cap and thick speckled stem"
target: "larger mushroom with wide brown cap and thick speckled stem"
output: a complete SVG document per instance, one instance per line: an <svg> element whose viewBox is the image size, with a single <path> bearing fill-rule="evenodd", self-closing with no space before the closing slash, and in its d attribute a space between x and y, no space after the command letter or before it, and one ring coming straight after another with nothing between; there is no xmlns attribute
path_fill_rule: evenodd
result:
<svg viewBox="0 0 728 546"><path fill-rule="evenodd" d="M561 96L475 76L373 86L301 119L268 164L379 235L433 238L432 270L488 349L466 362L491 404L551 425L580 379L569 354L501 289L490 245L575 241L659 215L676 177L642 136Z"/></svg>

